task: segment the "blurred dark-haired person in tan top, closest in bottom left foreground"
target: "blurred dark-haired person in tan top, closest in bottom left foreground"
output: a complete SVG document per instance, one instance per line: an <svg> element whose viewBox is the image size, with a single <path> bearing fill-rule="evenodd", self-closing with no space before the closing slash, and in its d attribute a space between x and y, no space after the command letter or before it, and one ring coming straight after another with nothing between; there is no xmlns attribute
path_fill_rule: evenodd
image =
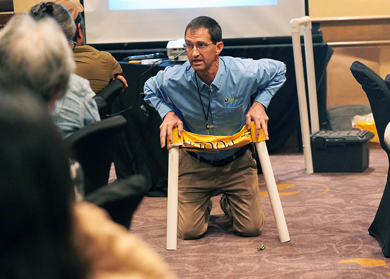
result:
<svg viewBox="0 0 390 279"><path fill-rule="evenodd" d="M173 279L105 211L75 203L66 151L45 107L26 90L0 89L0 278Z"/></svg>

